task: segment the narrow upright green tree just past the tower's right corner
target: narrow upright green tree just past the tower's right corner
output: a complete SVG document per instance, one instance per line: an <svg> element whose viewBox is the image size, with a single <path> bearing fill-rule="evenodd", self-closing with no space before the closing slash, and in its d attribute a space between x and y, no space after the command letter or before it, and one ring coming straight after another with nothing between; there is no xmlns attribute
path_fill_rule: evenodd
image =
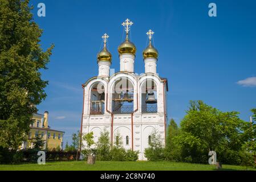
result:
<svg viewBox="0 0 256 182"><path fill-rule="evenodd" d="M167 160L178 161L181 159L180 147L176 142L176 137L178 136L178 134L179 129L177 123L173 119L170 119L165 147L165 158Z"/></svg>

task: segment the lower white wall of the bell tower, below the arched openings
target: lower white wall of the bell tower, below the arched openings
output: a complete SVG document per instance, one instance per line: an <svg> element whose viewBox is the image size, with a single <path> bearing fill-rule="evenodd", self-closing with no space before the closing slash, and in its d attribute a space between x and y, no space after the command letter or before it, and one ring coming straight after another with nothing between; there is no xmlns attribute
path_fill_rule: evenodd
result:
<svg viewBox="0 0 256 182"><path fill-rule="evenodd" d="M88 116L83 118L83 134L93 131L94 140L97 142L100 137L100 131L104 128L109 132L111 139L111 115ZM133 115L133 150L139 151L139 160L147 160L144 156L145 148L148 148L148 136L157 129L161 134L162 144L164 145L165 127L164 115L162 114L135 114ZM118 135L122 138L125 149L132 148L132 125L131 114L119 114L113 116L113 142ZM126 136L129 137L129 143L126 144ZM83 142L86 146L86 142ZM95 147L95 146L92 146Z"/></svg>

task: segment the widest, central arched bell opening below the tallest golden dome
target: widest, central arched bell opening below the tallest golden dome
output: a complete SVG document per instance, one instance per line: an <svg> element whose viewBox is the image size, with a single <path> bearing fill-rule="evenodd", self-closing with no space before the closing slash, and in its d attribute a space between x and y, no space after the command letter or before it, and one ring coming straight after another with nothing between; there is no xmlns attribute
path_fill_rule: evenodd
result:
<svg viewBox="0 0 256 182"><path fill-rule="evenodd" d="M133 112L133 84L127 77L115 81L112 89L112 112L115 114Z"/></svg>

